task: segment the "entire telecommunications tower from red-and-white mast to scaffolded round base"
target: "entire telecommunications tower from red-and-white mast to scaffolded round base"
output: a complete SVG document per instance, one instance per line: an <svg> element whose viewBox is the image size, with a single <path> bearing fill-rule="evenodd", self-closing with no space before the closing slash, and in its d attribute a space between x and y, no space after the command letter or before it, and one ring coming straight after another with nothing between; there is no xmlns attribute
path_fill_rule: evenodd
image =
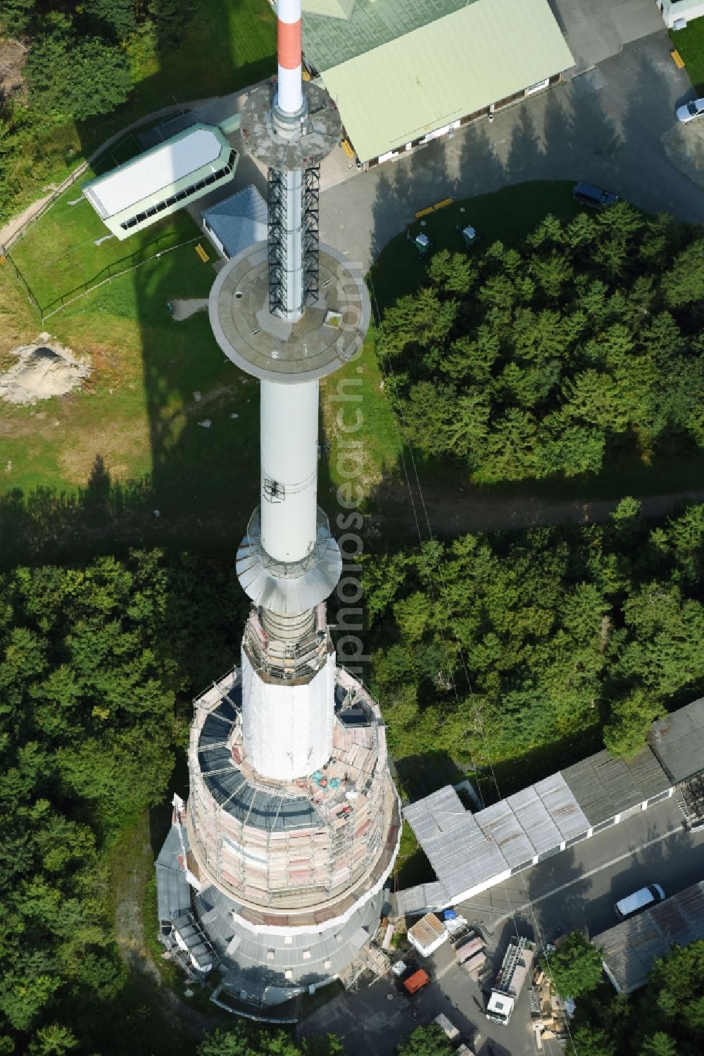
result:
<svg viewBox="0 0 704 1056"><path fill-rule="evenodd" d="M279 0L275 86L242 133L268 168L267 241L209 299L225 354L260 381L261 493L236 552L252 602L241 664L194 706L189 798L157 862L160 936L213 999L277 1005L359 963L400 840L379 706L339 667L326 601L342 572L317 505L319 380L359 354L363 279L318 239L319 164L340 138L301 76L301 0Z"/></svg>

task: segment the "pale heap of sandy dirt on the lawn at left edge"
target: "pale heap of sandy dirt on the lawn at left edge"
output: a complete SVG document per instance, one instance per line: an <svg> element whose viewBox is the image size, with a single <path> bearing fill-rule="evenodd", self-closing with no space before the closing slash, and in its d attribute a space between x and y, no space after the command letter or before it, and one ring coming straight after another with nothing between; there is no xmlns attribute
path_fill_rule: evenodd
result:
<svg viewBox="0 0 704 1056"><path fill-rule="evenodd" d="M11 350L16 362L0 374L0 399L6 403L32 404L52 396L65 396L90 376L87 358L78 359L71 348L40 334L32 344Z"/></svg>

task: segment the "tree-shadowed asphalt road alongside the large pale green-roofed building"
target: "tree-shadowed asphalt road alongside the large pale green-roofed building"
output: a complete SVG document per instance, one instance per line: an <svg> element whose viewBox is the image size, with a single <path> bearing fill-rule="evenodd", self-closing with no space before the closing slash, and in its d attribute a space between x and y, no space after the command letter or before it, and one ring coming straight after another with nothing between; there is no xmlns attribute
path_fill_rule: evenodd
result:
<svg viewBox="0 0 704 1056"><path fill-rule="evenodd" d="M652 0L635 2L654 10ZM704 193L666 152L672 136L702 134L678 130L674 109L692 89L670 46L659 31L498 112L491 124L483 118L452 139L434 139L408 157L328 185L321 193L321 240L366 270L417 210L530 180L587 180L649 211L704 221ZM338 159L329 165L337 180ZM472 221L481 227L480 215Z"/></svg>

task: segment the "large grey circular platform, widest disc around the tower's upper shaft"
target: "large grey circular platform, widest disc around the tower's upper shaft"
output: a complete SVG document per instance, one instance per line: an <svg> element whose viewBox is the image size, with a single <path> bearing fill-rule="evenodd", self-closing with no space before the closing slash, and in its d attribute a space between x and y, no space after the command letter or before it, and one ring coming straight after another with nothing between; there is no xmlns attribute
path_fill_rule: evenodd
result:
<svg viewBox="0 0 704 1056"><path fill-rule="evenodd" d="M243 250L210 291L210 325L225 355L264 381L323 378L362 347L372 308L361 274L330 246L320 247L320 295L296 323L269 312L267 245Z"/></svg>

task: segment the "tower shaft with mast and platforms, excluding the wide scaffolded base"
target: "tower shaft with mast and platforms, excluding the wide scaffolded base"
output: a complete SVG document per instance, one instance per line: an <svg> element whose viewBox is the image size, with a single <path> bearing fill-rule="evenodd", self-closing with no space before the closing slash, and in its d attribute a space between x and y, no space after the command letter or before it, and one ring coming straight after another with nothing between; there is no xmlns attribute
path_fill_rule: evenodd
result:
<svg viewBox="0 0 704 1056"><path fill-rule="evenodd" d="M223 269L210 316L226 354L261 381L261 501L236 558L253 602L243 742L255 774L290 781L324 768L334 748L325 602L342 555L318 508L319 380L361 346L369 306L361 277L319 245L318 170L339 142L340 114L321 86L303 82L301 0L278 0L277 16L275 89L252 90L241 126L268 170L269 237Z"/></svg>

